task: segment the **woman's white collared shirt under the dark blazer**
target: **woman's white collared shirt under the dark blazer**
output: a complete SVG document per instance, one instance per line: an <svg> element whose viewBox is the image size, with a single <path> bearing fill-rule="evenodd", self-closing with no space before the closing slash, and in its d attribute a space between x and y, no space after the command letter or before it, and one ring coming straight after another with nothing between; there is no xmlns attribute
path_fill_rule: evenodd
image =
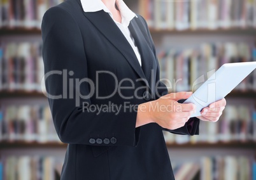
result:
<svg viewBox="0 0 256 180"><path fill-rule="evenodd" d="M139 49L137 48L137 46L135 46L134 38L132 37L132 34L128 28L131 20L134 17L137 18L137 16L134 12L132 12L128 8L128 6L124 3L124 1L116 0L118 10L120 11L120 14L122 17L121 23L114 20L112 13L110 12L110 10L108 10L108 8L105 6L105 4L101 0L80 0L80 1L82 4L82 7L83 7L83 11L85 11L85 12L96 12L96 11L103 10L111 16L113 21L117 24L117 27L121 30L121 32L124 34L125 38L129 42L129 44L131 45L131 47L139 61L139 65L141 65L141 55L139 54Z"/></svg>

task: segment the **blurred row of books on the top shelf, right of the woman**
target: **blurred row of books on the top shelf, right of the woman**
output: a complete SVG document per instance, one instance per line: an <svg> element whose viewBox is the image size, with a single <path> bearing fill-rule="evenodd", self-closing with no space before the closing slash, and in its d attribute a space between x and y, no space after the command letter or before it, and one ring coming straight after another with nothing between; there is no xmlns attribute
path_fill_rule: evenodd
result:
<svg viewBox="0 0 256 180"><path fill-rule="evenodd" d="M139 0L139 13L155 29L255 28L255 4L255 0Z"/></svg>

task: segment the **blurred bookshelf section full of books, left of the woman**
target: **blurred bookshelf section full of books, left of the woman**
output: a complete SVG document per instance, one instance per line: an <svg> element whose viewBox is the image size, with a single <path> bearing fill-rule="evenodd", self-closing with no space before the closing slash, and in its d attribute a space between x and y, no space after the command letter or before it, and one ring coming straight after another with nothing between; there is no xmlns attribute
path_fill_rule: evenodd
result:
<svg viewBox="0 0 256 180"><path fill-rule="evenodd" d="M41 19L48 8L62 1L8 0L0 5L0 179L60 179L67 145L50 133L53 123L39 84L43 72ZM6 120L8 108L16 110Z"/></svg>

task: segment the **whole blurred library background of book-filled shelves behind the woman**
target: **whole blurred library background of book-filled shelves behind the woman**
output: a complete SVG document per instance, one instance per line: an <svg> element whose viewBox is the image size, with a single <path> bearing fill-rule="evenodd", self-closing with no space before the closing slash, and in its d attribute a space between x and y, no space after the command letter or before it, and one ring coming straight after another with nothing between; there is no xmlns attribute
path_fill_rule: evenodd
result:
<svg viewBox="0 0 256 180"><path fill-rule="evenodd" d="M0 1L0 180L59 179L67 145L43 94L40 27L61 2ZM170 92L194 91L196 79L224 63L256 61L256 0L125 3L148 22L160 77L182 79ZM256 179L256 70L226 100L218 122L201 121L199 136L163 132L177 180Z"/></svg>

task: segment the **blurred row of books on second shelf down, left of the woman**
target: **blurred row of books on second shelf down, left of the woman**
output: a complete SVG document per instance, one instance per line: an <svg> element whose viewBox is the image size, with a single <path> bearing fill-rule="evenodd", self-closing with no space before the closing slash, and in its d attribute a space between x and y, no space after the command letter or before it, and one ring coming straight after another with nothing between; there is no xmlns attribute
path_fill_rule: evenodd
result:
<svg viewBox="0 0 256 180"><path fill-rule="evenodd" d="M41 48L41 42L3 42L0 91L46 91Z"/></svg>

